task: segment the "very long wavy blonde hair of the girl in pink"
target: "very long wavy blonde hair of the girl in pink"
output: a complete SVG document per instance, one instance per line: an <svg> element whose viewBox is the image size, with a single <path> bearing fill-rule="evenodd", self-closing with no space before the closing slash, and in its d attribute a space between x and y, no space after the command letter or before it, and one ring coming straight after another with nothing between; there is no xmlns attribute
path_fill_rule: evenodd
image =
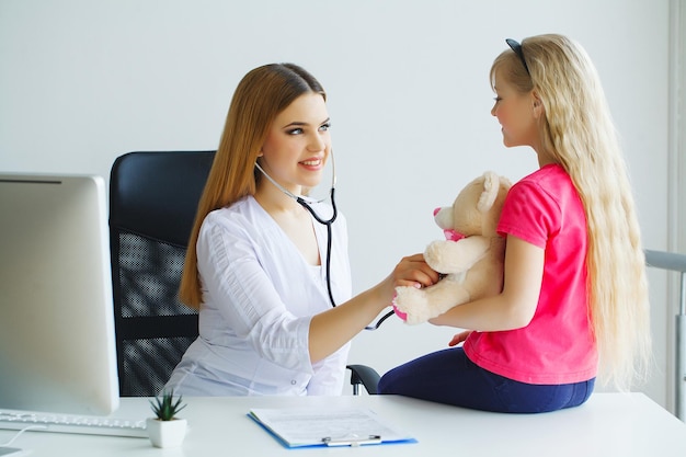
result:
<svg viewBox="0 0 686 457"><path fill-rule="evenodd" d="M625 160L598 75L585 50L561 35L523 41L529 73L507 49L493 62L518 92L545 107L541 148L569 173L586 214L588 318L598 379L620 390L644 381L651 358L645 259Z"/></svg>

